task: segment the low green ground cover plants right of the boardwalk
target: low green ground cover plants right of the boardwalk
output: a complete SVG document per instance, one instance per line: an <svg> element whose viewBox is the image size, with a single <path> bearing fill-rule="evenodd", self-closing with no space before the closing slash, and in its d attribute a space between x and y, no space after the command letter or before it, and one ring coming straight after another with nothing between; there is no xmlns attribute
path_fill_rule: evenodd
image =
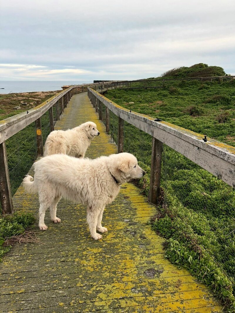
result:
<svg viewBox="0 0 235 313"><path fill-rule="evenodd" d="M132 111L235 146L234 80L169 81L162 89L109 90L106 97ZM110 125L117 142L118 119L112 113ZM147 171L138 184L148 195L151 136L125 123L124 151L133 153ZM164 145L161 203L153 228L168 239L167 258L210 286L228 312L235 312L234 208L232 187Z"/></svg>

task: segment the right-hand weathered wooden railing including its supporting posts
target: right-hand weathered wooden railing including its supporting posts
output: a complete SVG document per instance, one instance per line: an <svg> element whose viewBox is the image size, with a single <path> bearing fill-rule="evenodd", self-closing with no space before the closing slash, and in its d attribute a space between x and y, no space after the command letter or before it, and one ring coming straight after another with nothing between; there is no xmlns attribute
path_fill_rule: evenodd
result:
<svg viewBox="0 0 235 313"><path fill-rule="evenodd" d="M125 82L116 82L114 86L117 88L118 85L123 84ZM106 106L106 131L109 131L109 110L118 116L118 152L123 152L123 121L152 136L149 192L151 203L158 202L163 143L235 187L235 147L168 122L157 121L148 115L125 109L97 92L97 86L100 85L89 87L88 96L93 106L96 107L96 111L101 104ZM102 86L101 92L113 87L112 83L105 83L105 85L106 88Z"/></svg>

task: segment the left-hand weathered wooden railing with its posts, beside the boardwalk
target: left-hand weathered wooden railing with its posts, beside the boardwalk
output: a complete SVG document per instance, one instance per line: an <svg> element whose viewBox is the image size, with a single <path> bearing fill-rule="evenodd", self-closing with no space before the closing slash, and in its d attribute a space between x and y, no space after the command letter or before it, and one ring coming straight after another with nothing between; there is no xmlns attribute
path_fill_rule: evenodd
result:
<svg viewBox="0 0 235 313"><path fill-rule="evenodd" d="M8 171L8 158L5 141L35 121L37 155L43 156L41 116L44 115L45 112L49 111L50 131L53 131L54 117L52 106L54 105L56 108L55 120L59 120L60 112L64 111L64 108L67 106L72 95L78 92L78 88L81 90L81 92L86 91L87 86L89 85L90 84L71 86L70 88L61 91L59 94L53 96L49 100L43 102L31 110L0 121L0 203L3 214L13 212L11 184Z"/></svg>

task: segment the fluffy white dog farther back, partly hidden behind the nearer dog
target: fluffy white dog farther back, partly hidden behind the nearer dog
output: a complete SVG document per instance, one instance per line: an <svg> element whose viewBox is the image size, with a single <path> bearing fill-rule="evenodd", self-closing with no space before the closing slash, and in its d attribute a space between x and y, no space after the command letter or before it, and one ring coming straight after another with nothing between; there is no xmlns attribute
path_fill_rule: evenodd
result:
<svg viewBox="0 0 235 313"><path fill-rule="evenodd" d="M45 142L44 156L62 153L83 158L91 141L99 134L93 122L66 131L52 131Z"/></svg>

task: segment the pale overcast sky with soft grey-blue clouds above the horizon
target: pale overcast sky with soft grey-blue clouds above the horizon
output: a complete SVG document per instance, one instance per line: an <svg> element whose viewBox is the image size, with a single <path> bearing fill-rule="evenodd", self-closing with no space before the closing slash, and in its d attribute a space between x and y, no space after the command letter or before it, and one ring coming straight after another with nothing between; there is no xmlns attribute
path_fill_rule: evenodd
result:
<svg viewBox="0 0 235 313"><path fill-rule="evenodd" d="M235 74L234 0L0 0L0 80Z"/></svg>

